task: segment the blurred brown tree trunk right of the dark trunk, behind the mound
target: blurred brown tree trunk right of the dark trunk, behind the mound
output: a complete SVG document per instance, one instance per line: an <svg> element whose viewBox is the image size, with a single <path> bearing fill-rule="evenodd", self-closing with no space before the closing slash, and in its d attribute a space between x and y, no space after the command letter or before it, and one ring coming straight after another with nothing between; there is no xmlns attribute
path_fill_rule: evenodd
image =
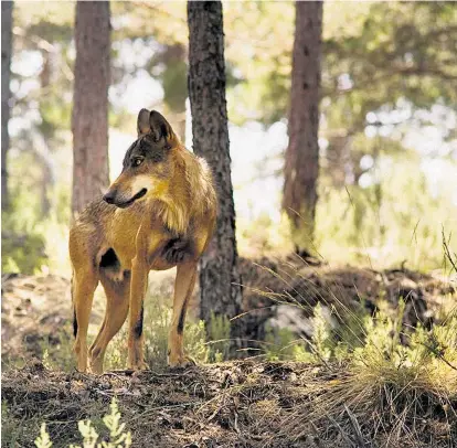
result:
<svg viewBox="0 0 457 448"><path fill-rule="evenodd" d="M296 252L315 253L322 2L297 1L283 207Z"/></svg>

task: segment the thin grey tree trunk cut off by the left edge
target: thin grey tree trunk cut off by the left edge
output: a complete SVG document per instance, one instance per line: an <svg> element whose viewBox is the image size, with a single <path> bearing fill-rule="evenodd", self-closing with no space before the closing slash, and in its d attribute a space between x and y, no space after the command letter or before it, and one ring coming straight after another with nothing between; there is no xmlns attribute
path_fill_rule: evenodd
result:
<svg viewBox="0 0 457 448"><path fill-rule="evenodd" d="M12 52L12 1L1 2L1 210L9 206L7 153L10 146L10 73Z"/></svg>

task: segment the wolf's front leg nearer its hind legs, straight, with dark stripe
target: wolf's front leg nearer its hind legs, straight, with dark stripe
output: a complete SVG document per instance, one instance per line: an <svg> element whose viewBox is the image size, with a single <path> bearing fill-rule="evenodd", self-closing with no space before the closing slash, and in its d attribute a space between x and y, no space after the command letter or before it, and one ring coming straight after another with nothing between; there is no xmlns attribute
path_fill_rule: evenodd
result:
<svg viewBox="0 0 457 448"><path fill-rule="evenodd" d="M130 307L129 307L129 326L128 326L128 369L145 370L148 365L145 363L142 352L142 320L144 320L144 301L148 287L149 266L145 257L135 257L131 263L130 280Z"/></svg>

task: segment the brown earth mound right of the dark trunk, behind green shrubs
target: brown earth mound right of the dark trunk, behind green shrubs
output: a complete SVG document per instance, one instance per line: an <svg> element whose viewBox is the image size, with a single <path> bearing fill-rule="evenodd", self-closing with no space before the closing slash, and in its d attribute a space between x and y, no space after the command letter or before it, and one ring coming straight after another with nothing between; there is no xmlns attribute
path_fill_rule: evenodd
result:
<svg viewBox="0 0 457 448"><path fill-rule="evenodd" d="M354 312L373 314L383 303L392 314L400 299L405 302L405 331L421 322L428 328L439 321L445 301L457 299L456 284L439 276L406 268L373 270L355 267L332 268L308 264L289 256L283 259L240 259L244 285L247 339L265 339L267 326L288 329L299 337L312 334L313 307L321 303L331 327Z"/></svg>

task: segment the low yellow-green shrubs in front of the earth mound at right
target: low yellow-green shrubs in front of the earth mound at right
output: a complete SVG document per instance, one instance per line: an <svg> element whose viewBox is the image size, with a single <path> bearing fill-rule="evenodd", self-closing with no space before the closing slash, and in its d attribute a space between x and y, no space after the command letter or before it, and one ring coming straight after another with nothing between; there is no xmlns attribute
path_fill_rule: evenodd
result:
<svg viewBox="0 0 457 448"><path fill-rule="evenodd" d="M455 373L457 363L457 316L449 313L431 330L418 324L402 326L405 303L395 312L381 309L374 317L355 312L332 328L320 306L315 308L312 338L297 340L288 329L267 329L265 358L270 361L344 362L364 375L385 375L396 385L416 381L443 383ZM453 387L453 383L449 383Z"/></svg>

